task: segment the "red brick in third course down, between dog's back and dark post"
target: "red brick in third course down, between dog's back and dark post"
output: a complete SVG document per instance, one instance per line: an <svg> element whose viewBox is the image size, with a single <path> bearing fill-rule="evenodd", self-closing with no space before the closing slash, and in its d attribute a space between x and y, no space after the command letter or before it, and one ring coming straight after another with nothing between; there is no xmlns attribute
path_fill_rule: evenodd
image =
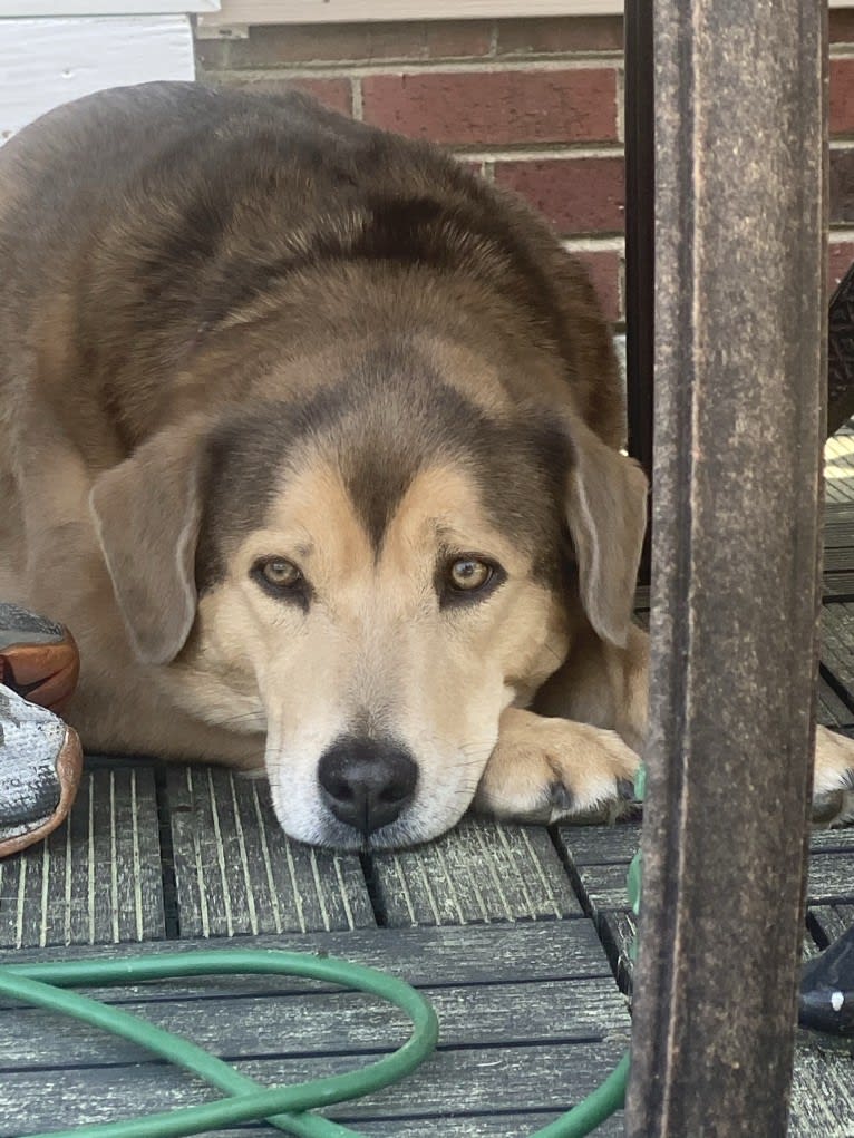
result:
<svg viewBox="0 0 854 1138"><path fill-rule="evenodd" d="M625 216L622 158L498 162L495 181L526 198L561 233L618 233Z"/></svg>

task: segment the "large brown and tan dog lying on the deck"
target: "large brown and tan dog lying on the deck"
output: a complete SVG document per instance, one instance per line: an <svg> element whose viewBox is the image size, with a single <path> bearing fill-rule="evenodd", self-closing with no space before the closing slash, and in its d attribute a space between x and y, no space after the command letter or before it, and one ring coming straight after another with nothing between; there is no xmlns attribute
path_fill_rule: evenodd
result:
<svg viewBox="0 0 854 1138"><path fill-rule="evenodd" d="M343 849L621 809L647 480L527 206L303 94L154 83L0 150L0 595L77 637L88 748L264 769ZM820 729L818 808L852 770Z"/></svg>

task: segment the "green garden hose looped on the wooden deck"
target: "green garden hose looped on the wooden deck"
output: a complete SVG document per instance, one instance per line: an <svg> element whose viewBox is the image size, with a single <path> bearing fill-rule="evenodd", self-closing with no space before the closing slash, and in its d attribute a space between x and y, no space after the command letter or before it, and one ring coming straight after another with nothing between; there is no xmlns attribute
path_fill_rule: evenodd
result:
<svg viewBox="0 0 854 1138"><path fill-rule="evenodd" d="M643 795L643 773L635 783ZM640 906L640 855L629 873L629 893L637 914ZM410 1017L412 1033L392 1055L345 1074L314 1079L293 1087L264 1088L180 1036L174 1036L128 1012L64 989L81 986L140 983L183 976L272 974L322 980L385 999ZM176 953L120 960L68 960L63 964L11 964L0 967L0 995L72 1016L145 1047L159 1058L192 1072L225 1094L224 1098L126 1122L107 1122L32 1135L28 1138L183 1138L206 1130L266 1120L299 1138L362 1138L338 1122L310 1113L388 1087L428 1058L438 1039L438 1021L420 992L395 976L331 957L277 950ZM625 1100L629 1054L607 1079L572 1111L537 1130L531 1138L583 1138Z"/></svg>

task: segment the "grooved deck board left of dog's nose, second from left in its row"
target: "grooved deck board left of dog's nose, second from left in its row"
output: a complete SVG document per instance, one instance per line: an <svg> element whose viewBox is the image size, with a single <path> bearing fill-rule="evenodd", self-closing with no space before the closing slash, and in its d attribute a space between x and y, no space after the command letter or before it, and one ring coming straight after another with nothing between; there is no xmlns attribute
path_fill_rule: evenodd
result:
<svg viewBox="0 0 854 1138"><path fill-rule="evenodd" d="M266 783L215 767L171 767L181 937L376 925L359 858L289 841Z"/></svg>

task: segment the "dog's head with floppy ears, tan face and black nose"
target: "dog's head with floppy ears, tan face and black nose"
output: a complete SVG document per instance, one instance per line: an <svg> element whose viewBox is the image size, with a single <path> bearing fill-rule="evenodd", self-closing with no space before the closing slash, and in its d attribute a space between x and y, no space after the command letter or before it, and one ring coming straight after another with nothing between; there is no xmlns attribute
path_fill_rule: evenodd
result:
<svg viewBox="0 0 854 1138"><path fill-rule="evenodd" d="M644 497L570 415L366 357L302 405L162 432L92 508L137 654L266 733L288 834L353 848L465 813L502 710L567 655L569 597L625 638Z"/></svg>

